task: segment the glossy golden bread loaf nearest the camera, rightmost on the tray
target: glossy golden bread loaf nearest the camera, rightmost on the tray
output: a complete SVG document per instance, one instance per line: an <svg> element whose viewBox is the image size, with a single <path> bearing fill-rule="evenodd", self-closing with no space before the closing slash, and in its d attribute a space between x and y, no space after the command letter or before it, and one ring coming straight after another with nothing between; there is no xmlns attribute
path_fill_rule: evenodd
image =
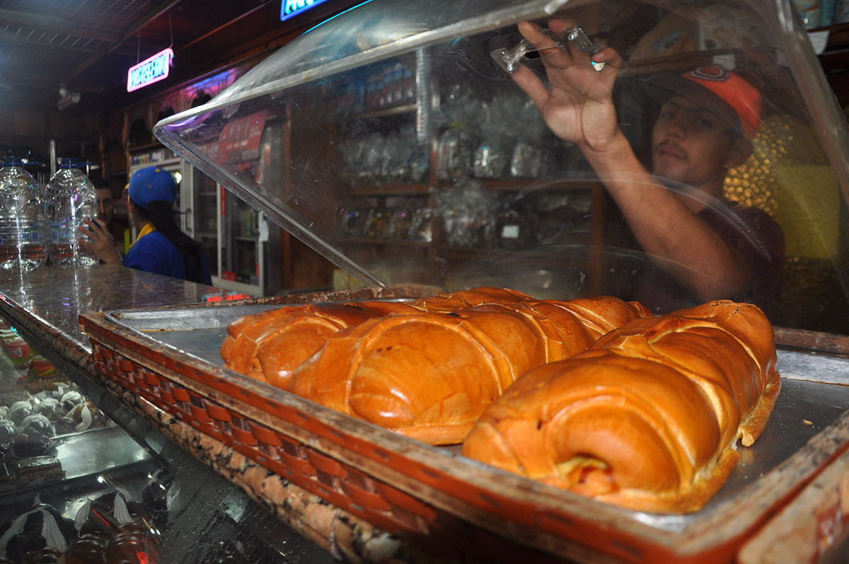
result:
<svg viewBox="0 0 849 564"><path fill-rule="evenodd" d="M756 306L706 303L611 331L531 370L484 411L463 454L633 510L699 510L779 394Z"/></svg>

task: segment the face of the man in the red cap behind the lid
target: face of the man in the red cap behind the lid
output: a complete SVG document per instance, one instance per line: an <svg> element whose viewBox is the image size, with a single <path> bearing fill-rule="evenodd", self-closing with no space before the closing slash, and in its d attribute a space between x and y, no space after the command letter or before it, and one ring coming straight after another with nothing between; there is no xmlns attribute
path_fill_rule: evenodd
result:
<svg viewBox="0 0 849 564"><path fill-rule="evenodd" d="M728 167L734 166L734 133L710 101L696 104L672 95L661 107L652 131L655 175L714 192L722 187Z"/></svg>

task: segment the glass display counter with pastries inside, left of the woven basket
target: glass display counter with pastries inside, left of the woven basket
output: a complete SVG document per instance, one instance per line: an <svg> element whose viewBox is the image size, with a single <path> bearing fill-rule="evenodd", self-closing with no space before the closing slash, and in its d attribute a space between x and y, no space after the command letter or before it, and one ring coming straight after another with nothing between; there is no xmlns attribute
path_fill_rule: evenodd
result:
<svg viewBox="0 0 849 564"><path fill-rule="evenodd" d="M81 301L100 310L221 290L126 268L0 277L0 561L335 561L85 374Z"/></svg>

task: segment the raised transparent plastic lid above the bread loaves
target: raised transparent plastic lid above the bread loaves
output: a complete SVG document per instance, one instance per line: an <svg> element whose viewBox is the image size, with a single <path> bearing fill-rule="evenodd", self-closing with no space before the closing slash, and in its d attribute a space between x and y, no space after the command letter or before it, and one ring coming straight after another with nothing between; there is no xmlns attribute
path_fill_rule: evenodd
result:
<svg viewBox="0 0 849 564"><path fill-rule="evenodd" d="M155 134L366 285L849 334L846 121L784 0L372 0Z"/></svg>

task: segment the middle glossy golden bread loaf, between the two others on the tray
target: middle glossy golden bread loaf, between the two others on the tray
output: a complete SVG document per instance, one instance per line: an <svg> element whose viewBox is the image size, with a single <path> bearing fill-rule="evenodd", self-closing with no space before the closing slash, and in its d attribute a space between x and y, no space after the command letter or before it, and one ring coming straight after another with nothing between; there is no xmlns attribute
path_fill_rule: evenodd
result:
<svg viewBox="0 0 849 564"><path fill-rule="evenodd" d="M430 302L448 313L393 313L330 336L292 373L290 392L425 443L459 443L527 370L650 315L610 296L445 307L452 301Z"/></svg>

